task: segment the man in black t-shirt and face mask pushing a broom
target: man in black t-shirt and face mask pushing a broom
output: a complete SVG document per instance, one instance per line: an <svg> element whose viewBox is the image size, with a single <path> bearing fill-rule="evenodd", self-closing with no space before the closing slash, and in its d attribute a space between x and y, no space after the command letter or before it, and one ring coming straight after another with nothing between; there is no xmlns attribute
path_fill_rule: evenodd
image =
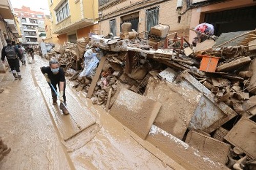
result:
<svg viewBox="0 0 256 170"><path fill-rule="evenodd" d="M57 85L59 88L59 108L63 114L69 114L66 105L66 79L65 72L59 67L59 63L55 59L51 59L48 67L41 67L41 72L46 77L46 81L52 90L52 104L57 105Z"/></svg>

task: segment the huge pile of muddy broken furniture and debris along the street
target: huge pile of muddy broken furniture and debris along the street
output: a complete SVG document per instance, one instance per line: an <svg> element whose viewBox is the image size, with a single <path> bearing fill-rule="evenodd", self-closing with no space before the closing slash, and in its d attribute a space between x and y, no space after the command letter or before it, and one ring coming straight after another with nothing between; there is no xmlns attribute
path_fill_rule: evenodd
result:
<svg viewBox="0 0 256 170"><path fill-rule="evenodd" d="M128 23L121 30L120 38L93 35L82 57L77 46L63 50L73 87L195 169L255 169L256 43L230 45L248 34L193 46L166 25L147 38Z"/></svg>

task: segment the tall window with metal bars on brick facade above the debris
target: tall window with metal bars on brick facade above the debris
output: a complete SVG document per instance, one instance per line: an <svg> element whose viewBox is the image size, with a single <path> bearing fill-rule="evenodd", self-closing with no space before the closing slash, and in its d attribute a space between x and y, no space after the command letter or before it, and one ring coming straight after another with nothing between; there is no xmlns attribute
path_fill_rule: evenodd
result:
<svg viewBox="0 0 256 170"><path fill-rule="evenodd" d="M151 27L158 25L159 7L146 10L146 31L150 32Z"/></svg>

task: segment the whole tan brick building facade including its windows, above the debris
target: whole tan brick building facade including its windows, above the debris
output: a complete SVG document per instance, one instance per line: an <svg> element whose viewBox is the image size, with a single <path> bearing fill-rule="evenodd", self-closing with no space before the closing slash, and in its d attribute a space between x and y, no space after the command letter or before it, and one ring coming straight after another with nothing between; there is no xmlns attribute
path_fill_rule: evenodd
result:
<svg viewBox="0 0 256 170"><path fill-rule="evenodd" d="M149 32L158 23L169 25L170 32L189 34L191 11L183 0L99 0L100 34L119 36L121 24L131 22L137 32Z"/></svg>

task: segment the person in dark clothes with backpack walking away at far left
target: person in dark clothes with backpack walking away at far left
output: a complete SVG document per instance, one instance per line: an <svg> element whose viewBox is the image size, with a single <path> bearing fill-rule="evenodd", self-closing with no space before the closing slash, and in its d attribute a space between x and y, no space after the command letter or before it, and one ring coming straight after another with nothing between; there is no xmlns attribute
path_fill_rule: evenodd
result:
<svg viewBox="0 0 256 170"><path fill-rule="evenodd" d="M20 74L19 61L18 61L18 58L20 60L22 59L22 54L19 52L16 46L12 45L12 41L10 39L7 39L6 42L7 42L7 46L4 46L2 50L1 60L3 63L5 63L5 57L6 57L9 63L9 66L11 67L11 71L15 80L22 80L22 75Z"/></svg>

